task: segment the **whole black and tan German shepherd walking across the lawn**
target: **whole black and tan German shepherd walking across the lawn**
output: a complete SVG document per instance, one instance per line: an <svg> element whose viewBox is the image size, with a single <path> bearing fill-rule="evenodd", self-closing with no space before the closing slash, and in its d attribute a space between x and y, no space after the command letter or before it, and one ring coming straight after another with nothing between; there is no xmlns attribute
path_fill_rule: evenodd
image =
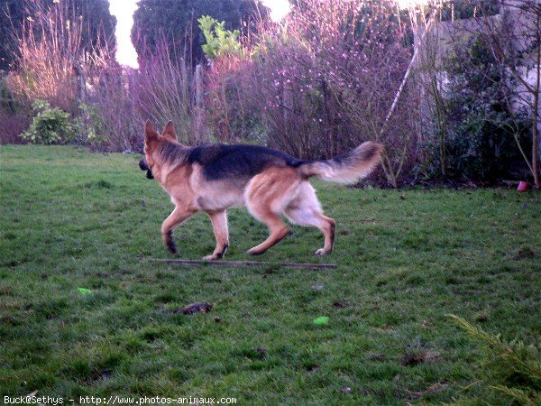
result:
<svg viewBox="0 0 541 406"><path fill-rule="evenodd" d="M324 216L308 179L353 183L368 176L381 159L382 145L366 142L332 160L301 161L288 154L255 145L213 143L187 147L179 143L173 123L158 134L147 121L144 158L139 162L147 178L156 179L169 193L175 209L161 225L163 243L175 254L172 231L197 211L212 222L216 247L206 260L224 256L229 245L227 208L245 206L269 227L270 235L249 254L263 254L289 234L282 222L317 227L325 235L316 255L331 253L335 220Z"/></svg>

